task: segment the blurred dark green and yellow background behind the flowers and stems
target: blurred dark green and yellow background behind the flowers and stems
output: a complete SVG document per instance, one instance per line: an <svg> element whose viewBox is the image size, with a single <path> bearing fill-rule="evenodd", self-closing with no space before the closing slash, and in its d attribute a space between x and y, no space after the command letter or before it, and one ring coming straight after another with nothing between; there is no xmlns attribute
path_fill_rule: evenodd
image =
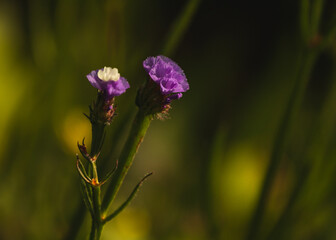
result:
<svg viewBox="0 0 336 240"><path fill-rule="evenodd" d="M323 1L1 1L0 239L69 239L81 205L76 143L90 141L82 113L96 95L85 75L117 67L131 85L117 100L104 173L135 115L142 61L158 54L184 69L190 91L151 124L113 207L154 175L102 239L247 239L305 62L301 2ZM312 48L335 15L324 1ZM335 49L331 41L307 71L255 239L336 239ZM87 215L77 239L89 225Z"/></svg>

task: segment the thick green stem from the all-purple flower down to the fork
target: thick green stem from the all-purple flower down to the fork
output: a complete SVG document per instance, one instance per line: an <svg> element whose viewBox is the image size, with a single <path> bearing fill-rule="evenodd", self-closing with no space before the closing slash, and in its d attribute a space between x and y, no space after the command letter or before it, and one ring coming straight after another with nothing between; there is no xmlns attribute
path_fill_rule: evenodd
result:
<svg viewBox="0 0 336 240"><path fill-rule="evenodd" d="M118 168L114 173L111 183L109 184L104 196L102 203L102 216L106 215L108 207L115 199L127 171L133 162L134 156L147 132L151 120L151 115L146 115L141 110L138 111L134 119L131 132L121 152Z"/></svg>

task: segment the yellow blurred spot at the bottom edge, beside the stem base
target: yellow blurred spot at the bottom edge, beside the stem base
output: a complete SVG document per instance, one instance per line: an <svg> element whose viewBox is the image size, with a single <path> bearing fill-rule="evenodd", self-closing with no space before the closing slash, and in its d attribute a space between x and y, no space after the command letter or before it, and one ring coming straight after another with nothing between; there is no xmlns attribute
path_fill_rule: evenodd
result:
<svg viewBox="0 0 336 240"><path fill-rule="evenodd" d="M115 219L106 224L102 240L146 240L150 227L150 219L146 211L127 207Z"/></svg>

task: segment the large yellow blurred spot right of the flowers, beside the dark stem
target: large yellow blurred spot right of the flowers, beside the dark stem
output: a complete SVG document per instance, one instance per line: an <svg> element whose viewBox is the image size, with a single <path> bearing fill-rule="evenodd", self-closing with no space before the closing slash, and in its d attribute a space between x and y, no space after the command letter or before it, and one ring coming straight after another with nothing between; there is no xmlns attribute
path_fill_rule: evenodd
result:
<svg viewBox="0 0 336 240"><path fill-rule="evenodd" d="M235 146L223 157L213 179L213 191L215 204L224 208L226 216L244 218L250 214L259 194L265 157L264 152L248 144Z"/></svg>

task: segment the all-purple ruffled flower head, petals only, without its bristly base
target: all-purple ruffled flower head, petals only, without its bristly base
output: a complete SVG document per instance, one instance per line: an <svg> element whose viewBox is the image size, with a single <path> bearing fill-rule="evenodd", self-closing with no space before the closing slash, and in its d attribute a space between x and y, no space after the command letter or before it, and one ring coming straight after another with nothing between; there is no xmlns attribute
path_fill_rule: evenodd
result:
<svg viewBox="0 0 336 240"><path fill-rule="evenodd" d="M170 58L165 56L148 57L143 67L151 79L160 86L161 94L167 103L182 97L189 90L189 84L183 70Z"/></svg>

